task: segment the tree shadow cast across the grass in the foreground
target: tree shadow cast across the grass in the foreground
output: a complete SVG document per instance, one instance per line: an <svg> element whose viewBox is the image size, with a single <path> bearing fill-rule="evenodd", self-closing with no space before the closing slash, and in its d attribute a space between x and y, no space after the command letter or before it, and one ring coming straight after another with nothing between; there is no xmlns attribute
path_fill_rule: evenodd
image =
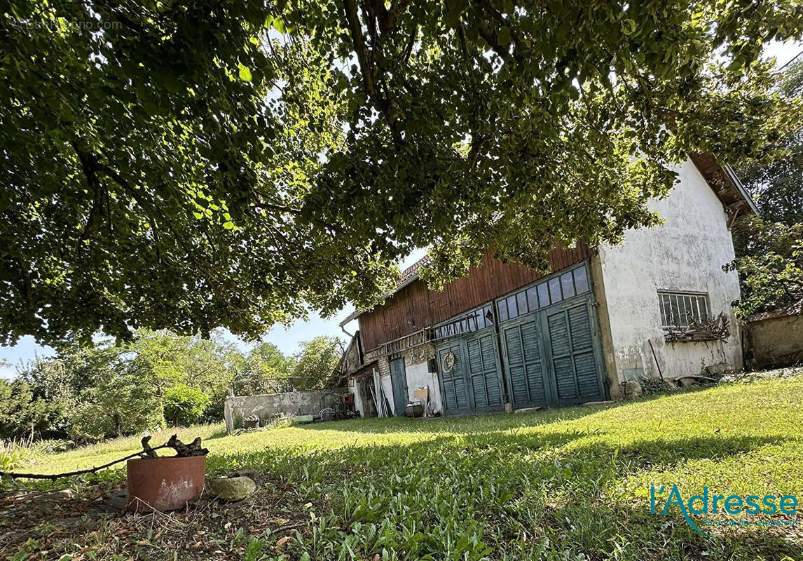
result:
<svg viewBox="0 0 803 561"><path fill-rule="evenodd" d="M756 529L719 531L707 538L688 526L677 509L650 514L646 496L607 498L623 477L643 469L671 469L699 458L721 461L786 439L663 435L620 445L606 441L607 436L473 432L434 435L410 444L357 441L338 449L271 448L229 460L271 473L304 501L336 517L332 523L343 530L332 535L332 543L355 538L352 532L360 531L355 527L382 524L386 543L409 554L408 559L462 559L453 549L455 540L461 531L477 527L484 528L482 539L494 550L491 559L801 555L799 544L783 535ZM690 480L683 468L677 477L689 488L705 484L700 477ZM417 532L426 538L406 543ZM357 538L351 547L366 547L373 555L370 543L367 537Z"/></svg>

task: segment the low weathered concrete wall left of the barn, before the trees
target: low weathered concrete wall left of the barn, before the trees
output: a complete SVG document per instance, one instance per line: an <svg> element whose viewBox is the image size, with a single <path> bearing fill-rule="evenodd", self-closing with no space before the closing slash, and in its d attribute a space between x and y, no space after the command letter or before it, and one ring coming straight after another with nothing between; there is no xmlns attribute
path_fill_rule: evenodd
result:
<svg viewBox="0 0 803 561"><path fill-rule="evenodd" d="M226 420L226 430L236 428L238 418L258 416L259 424L264 425L279 414L316 415L321 410L321 398L329 391L338 394L345 393L344 388L334 390L290 391L284 394L264 395L230 395L226 398L223 407L223 416ZM327 403L334 399L328 398Z"/></svg>

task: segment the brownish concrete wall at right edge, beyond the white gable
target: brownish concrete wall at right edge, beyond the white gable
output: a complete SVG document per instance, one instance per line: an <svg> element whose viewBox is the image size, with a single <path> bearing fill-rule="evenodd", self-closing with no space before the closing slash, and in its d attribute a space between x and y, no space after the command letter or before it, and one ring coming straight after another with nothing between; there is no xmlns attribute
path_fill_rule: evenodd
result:
<svg viewBox="0 0 803 561"><path fill-rule="evenodd" d="M744 354L754 369L803 362L803 316L761 313L745 326Z"/></svg>

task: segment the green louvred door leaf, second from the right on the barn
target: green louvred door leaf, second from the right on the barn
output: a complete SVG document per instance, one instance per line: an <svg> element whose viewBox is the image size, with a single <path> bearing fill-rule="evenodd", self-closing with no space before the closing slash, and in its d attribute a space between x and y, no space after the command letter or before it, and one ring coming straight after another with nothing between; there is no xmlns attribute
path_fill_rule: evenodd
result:
<svg viewBox="0 0 803 561"><path fill-rule="evenodd" d="M549 403L539 324L538 314L531 314L501 329L507 391L514 409L544 407Z"/></svg>

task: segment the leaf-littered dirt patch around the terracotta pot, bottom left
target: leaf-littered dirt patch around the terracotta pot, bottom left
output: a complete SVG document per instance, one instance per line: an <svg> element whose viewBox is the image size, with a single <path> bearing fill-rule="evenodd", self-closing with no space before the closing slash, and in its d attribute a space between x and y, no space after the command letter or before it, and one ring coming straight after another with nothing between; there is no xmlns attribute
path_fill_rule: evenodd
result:
<svg viewBox="0 0 803 561"><path fill-rule="evenodd" d="M289 485L262 483L241 502L205 491L184 510L155 514L124 513L122 485L0 493L0 559L240 561L252 537L267 538L278 555L309 516Z"/></svg>

